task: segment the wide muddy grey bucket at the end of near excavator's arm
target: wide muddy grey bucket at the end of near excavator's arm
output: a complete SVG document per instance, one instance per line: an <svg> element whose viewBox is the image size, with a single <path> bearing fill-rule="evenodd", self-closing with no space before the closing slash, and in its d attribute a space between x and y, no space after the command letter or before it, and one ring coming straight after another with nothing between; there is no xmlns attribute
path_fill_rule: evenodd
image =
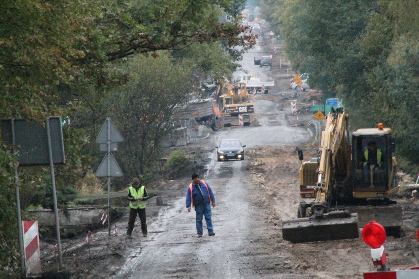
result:
<svg viewBox="0 0 419 279"><path fill-rule="evenodd" d="M282 222L282 238L292 243L359 237L358 216L342 218L298 218Z"/></svg>

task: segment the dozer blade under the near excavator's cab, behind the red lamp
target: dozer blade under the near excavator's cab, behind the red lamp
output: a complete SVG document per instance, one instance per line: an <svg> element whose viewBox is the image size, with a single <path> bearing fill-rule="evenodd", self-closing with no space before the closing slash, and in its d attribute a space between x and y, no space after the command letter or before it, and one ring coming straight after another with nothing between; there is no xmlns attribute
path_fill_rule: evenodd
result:
<svg viewBox="0 0 419 279"><path fill-rule="evenodd" d="M403 210L398 204L345 206L343 209L358 214L359 228L364 227L369 221L375 221L384 227L400 227L403 225ZM341 208L339 208L339 210L341 210Z"/></svg>

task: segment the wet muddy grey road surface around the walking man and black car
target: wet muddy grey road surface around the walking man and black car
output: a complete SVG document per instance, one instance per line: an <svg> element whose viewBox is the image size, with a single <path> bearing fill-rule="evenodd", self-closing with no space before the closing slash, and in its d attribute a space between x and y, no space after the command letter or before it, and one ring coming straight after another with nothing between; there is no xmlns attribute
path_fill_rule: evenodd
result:
<svg viewBox="0 0 419 279"><path fill-rule="evenodd" d="M268 95L267 95L268 96ZM184 197L150 224L150 240L138 251L138 257L130 258L115 278L251 278L260 275L255 268L253 249L250 244L259 243L263 237L266 216L257 211L269 205L258 205L261 189L249 181L248 160L216 162L215 149L218 141L237 138L250 148L267 145L299 144L309 140L303 127L290 127L285 113L277 113L277 104L262 100L255 102L258 126L221 129L208 139L210 158L208 173L201 176L211 186L217 206L213 209L213 225L216 235L197 238L195 213L187 212ZM247 154L246 154L247 155ZM246 158L246 156L245 156ZM186 194L186 186L184 194ZM292 209L294 211L294 208ZM206 232L204 227L204 232Z"/></svg>

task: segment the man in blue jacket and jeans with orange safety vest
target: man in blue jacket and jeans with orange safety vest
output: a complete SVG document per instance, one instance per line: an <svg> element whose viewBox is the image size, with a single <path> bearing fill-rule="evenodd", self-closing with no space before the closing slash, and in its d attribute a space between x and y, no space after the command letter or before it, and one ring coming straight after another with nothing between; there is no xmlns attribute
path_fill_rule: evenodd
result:
<svg viewBox="0 0 419 279"><path fill-rule="evenodd" d="M207 223L208 235L215 235L211 220L211 205L212 207L215 206L215 197L208 183L204 180L200 180L197 173L192 174L192 183L186 191L186 208L188 209L188 212L191 211L191 205L192 207L195 207L198 237L202 237L203 217L205 217L205 222Z"/></svg>

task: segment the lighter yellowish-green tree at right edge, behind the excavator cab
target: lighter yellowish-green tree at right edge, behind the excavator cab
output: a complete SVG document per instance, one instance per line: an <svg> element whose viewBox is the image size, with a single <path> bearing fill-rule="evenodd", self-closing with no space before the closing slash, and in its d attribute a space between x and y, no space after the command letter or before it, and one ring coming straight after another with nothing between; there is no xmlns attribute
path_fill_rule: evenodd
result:
<svg viewBox="0 0 419 279"><path fill-rule="evenodd" d="M369 118L386 123L397 139L402 167L419 170L419 7L415 1L378 1L361 41Z"/></svg>

